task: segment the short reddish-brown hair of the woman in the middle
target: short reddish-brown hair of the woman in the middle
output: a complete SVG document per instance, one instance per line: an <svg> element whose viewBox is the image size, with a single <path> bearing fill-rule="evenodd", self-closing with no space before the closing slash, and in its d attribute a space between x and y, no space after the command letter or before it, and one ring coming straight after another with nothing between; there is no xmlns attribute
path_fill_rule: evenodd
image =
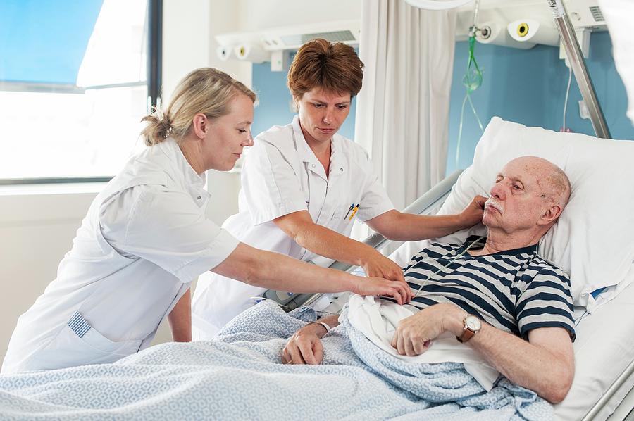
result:
<svg viewBox="0 0 634 421"><path fill-rule="evenodd" d="M352 46L312 39L297 51L288 70L288 89L294 98L313 88L338 94L359 94L363 83L363 62Z"/></svg>

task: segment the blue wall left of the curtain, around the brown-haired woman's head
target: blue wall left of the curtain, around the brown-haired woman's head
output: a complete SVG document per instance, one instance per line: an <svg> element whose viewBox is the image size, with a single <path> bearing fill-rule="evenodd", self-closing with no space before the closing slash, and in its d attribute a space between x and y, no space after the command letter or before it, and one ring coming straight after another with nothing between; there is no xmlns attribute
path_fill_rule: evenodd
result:
<svg viewBox="0 0 634 421"><path fill-rule="evenodd" d="M259 106L255 109L251 132L254 137L273 125L287 125L295 115L291 111L292 97L286 87L286 72L271 72L271 63L253 65L253 87L258 94ZM341 126L339 134L354 139L354 114L356 98L352 100L350 114Z"/></svg>

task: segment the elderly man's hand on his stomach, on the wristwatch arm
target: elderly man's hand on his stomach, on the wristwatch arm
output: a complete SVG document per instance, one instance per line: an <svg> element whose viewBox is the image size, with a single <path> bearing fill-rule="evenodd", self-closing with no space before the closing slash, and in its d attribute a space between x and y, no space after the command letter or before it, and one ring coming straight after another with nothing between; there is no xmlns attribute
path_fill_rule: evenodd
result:
<svg viewBox="0 0 634 421"><path fill-rule="evenodd" d="M460 334L466 312L453 304L435 304L399 322L392 346L399 354L417 356L431 346L431 341L449 331Z"/></svg>

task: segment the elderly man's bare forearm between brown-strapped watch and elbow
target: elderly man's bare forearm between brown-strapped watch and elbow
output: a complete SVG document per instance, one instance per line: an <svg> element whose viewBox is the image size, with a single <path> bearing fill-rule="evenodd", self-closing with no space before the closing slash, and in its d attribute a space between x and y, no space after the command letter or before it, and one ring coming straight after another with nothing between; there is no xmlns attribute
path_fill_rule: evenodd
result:
<svg viewBox="0 0 634 421"><path fill-rule="evenodd" d="M535 346L487 323L468 344L511 382L535 391L547 401L558 403L568 394L574 360L567 358L565 352L560 355ZM568 352L572 353L572 346Z"/></svg>

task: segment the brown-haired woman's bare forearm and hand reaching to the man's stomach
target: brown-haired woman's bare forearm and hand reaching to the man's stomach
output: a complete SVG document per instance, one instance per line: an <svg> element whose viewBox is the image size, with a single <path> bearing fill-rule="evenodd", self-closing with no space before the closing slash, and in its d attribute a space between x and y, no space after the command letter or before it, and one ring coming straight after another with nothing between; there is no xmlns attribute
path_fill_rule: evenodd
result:
<svg viewBox="0 0 634 421"><path fill-rule="evenodd" d="M394 261L367 244L316 224L308 211L280 216L273 223L297 244L319 256L361 266L368 276L405 282L403 271Z"/></svg>

